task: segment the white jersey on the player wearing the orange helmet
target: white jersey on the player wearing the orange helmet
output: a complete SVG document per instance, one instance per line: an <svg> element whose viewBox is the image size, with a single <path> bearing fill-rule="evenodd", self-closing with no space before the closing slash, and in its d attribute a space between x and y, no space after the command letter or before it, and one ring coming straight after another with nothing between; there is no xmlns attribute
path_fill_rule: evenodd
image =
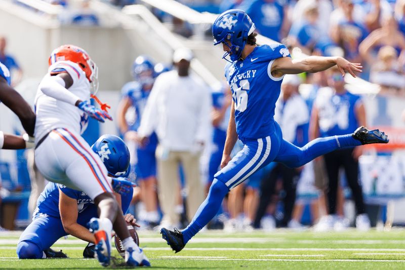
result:
<svg viewBox="0 0 405 270"><path fill-rule="evenodd" d="M51 76L51 72L64 71L68 72L73 80L73 84L68 90L79 99L90 102L90 82L86 78L86 73L76 63L58 61L52 64L44 80ZM39 88L35 96L35 114L36 141L56 128L67 128L77 134L82 134L86 130L89 121L88 115L78 107L47 96Z"/></svg>

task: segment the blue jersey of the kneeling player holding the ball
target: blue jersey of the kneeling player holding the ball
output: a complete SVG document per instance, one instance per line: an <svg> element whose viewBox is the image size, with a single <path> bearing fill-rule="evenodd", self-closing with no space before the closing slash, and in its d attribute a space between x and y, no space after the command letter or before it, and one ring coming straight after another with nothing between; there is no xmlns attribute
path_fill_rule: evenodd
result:
<svg viewBox="0 0 405 270"><path fill-rule="evenodd" d="M94 213L97 213L97 207L94 205L92 199L83 191L78 191L75 189L68 188L61 184L55 184L49 182L44 191L36 202L36 209L34 211L34 216L37 214L47 214L52 217L60 217L59 213L59 189L68 197L75 199L77 201L77 212L84 212L88 208L94 208ZM127 212L127 209L131 203L133 192L121 195L121 208L123 213Z"/></svg>

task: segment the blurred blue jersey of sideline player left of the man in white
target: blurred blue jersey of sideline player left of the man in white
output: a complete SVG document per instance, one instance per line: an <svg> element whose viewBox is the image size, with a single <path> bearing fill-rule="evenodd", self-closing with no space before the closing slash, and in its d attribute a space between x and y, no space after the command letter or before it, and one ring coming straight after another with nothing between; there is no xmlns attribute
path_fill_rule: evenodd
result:
<svg viewBox="0 0 405 270"><path fill-rule="evenodd" d="M125 97L130 98L132 107L133 107L133 115L131 115L131 121L128 121L128 126L130 130L137 131L139 126L141 125L141 118L143 111L146 106L146 101L148 100L150 91L144 91L142 86L137 82L129 82L124 85L123 89L121 89L121 93ZM156 133L152 133L149 137L149 142L145 146L146 149L154 150L157 145L157 136Z"/></svg>

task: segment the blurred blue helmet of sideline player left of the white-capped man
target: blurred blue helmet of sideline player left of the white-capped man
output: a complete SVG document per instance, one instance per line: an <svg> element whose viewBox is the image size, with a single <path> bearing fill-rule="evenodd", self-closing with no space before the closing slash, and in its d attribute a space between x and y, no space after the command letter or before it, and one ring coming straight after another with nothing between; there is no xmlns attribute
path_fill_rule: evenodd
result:
<svg viewBox="0 0 405 270"><path fill-rule="evenodd" d="M154 62L146 55L138 56L132 65L132 76L142 85L152 85L154 82Z"/></svg>

